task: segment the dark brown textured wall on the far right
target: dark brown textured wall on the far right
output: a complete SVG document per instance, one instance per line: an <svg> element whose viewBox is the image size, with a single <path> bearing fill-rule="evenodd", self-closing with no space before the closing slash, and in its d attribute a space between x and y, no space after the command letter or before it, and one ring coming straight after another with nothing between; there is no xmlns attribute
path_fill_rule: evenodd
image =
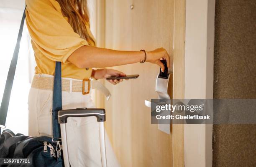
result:
<svg viewBox="0 0 256 167"><path fill-rule="evenodd" d="M216 0L214 98L256 99L256 0ZM256 125L214 125L213 167L256 167Z"/></svg>

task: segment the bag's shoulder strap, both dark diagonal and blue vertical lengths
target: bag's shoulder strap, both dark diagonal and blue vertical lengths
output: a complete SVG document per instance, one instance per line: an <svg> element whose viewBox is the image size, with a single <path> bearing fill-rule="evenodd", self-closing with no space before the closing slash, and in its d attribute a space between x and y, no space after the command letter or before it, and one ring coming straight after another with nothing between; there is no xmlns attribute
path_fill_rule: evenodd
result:
<svg viewBox="0 0 256 167"><path fill-rule="evenodd" d="M5 127L5 121L7 117L8 112L8 106L10 102L10 94L13 87L13 80L15 76L15 70L17 66L18 61L18 54L20 49L20 40L22 36L23 31L23 25L24 20L26 17L26 8L24 10L21 23L20 23L20 29L18 33L17 43L13 52L13 58L10 63L10 68L8 72L8 76L5 83L5 90L3 93L3 99L0 107L0 133L1 133L1 127ZM61 132L60 132L60 125L58 123L58 111L62 109L62 100L61 100L61 62L56 62L55 66L55 74L54 74L54 92L53 92L53 111L52 111L52 121L53 121L53 136L54 138L60 138Z"/></svg>

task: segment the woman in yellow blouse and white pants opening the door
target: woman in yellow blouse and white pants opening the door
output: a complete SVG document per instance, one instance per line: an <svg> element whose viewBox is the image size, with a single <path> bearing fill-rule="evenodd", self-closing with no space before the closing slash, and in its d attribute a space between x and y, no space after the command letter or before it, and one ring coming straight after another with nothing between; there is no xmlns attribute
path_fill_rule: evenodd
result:
<svg viewBox="0 0 256 167"><path fill-rule="evenodd" d="M52 136L51 108L55 62L62 62L63 109L94 107L90 94L82 95L82 80L101 79L125 73L104 67L144 61L164 70L164 48L154 51L115 51L95 47L90 31L86 0L26 0L26 23L32 38L36 74L29 94L29 135ZM102 68L93 70L92 68ZM122 81L122 80L120 80ZM110 80L112 84L120 81ZM78 91L77 91L78 90ZM67 125L69 158L72 167L100 167L98 124L93 117L71 119ZM109 167L120 166L106 136Z"/></svg>

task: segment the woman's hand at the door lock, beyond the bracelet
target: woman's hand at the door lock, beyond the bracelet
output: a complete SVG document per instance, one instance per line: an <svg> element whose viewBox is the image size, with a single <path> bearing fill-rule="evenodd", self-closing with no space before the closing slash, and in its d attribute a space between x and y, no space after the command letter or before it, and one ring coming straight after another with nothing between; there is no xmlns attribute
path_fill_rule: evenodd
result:
<svg viewBox="0 0 256 167"><path fill-rule="evenodd" d="M164 48L158 48L154 51L146 52L147 58L146 61L149 63L157 64L161 67L162 72L164 72L164 64L160 60L167 61L167 67L170 67L170 56Z"/></svg>

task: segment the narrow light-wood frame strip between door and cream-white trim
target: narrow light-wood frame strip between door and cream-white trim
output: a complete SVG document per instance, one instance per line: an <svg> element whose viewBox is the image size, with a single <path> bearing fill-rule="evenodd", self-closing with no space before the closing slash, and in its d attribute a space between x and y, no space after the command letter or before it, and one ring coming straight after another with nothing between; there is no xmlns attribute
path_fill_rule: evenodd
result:
<svg viewBox="0 0 256 167"><path fill-rule="evenodd" d="M184 99L186 0L174 0L173 99ZM172 166L184 167L184 125L172 124Z"/></svg>

